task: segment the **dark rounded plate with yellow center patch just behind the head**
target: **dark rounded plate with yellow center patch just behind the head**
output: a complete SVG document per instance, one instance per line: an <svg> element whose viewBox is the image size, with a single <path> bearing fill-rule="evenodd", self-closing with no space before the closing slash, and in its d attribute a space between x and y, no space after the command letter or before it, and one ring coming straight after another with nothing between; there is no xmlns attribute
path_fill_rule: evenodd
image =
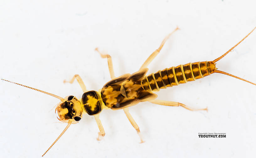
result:
<svg viewBox="0 0 256 158"><path fill-rule="evenodd" d="M102 110L100 100L96 91L85 92L82 96L83 108L89 115L95 115Z"/></svg>

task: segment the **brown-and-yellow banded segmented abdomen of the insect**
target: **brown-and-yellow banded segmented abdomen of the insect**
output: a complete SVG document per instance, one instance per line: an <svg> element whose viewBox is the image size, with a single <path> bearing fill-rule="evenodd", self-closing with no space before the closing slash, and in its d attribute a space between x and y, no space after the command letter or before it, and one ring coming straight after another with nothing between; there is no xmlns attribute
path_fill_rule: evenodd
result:
<svg viewBox="0 0 256 158"><path fill-rule="evenodd" d="M141 87L147 91L177 86L180 83L195 81L214 73L215 64L212 61L188 63L176 67L166 68L162 71L145 76L141 80Z"/></svg>

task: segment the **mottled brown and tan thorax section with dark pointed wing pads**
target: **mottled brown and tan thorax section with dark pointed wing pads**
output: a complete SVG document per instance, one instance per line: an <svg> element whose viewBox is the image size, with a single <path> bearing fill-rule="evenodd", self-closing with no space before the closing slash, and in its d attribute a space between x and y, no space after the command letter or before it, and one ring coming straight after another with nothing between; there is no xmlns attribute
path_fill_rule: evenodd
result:
<svg viewBox="0 0 256 158"><path fill-rule="evenodd" d="M113 110L136 105L139 102L157 97L152 92L145 91L141 79L147 73L147 68L133 74L117 77L106 83L101 90L104 104Z"/></svg>

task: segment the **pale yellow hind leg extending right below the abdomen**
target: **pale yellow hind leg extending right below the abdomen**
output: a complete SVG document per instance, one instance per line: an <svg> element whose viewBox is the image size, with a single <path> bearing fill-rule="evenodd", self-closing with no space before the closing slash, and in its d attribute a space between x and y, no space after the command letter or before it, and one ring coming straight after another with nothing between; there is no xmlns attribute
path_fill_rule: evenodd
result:
<svg viewBox="0 0 256 158"><path fill-rule="evenodd" d="M183 108L186 108L186 109L191 110L191 111L198 111L198 110L208 111L207 107L206 108L201 108L201 109L192 108L192 107L189 107L187 105L184 105L184 104L178 103L178 102L170 102L170 101L164 101L164 100L158 100L158 99L155 99L155 100L152 100L152 101L149 101L149 102L154 103L154 104L158 104L158 105L165 105L165 106L182 106Z"/></svg>

